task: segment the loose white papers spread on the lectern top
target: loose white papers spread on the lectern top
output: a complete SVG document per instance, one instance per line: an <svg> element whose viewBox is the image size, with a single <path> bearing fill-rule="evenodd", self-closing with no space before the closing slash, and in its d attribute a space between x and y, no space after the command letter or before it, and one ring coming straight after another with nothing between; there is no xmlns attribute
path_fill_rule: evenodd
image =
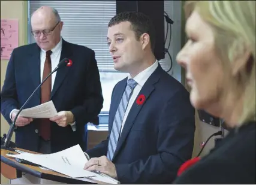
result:
<svg viewBox="0 0 256 185"><path fill-rule="evenodd" d="M25 159L29 162L36 163L79 180L88 181L89 178L91 180L98 180L104 183L119 183L119 181L109 177L108 175L97 174L95 172L84 170L83 167L88 160L86 159L86 156L79 144L52 154L20 153L7 154L7 156Z"/></svg>

